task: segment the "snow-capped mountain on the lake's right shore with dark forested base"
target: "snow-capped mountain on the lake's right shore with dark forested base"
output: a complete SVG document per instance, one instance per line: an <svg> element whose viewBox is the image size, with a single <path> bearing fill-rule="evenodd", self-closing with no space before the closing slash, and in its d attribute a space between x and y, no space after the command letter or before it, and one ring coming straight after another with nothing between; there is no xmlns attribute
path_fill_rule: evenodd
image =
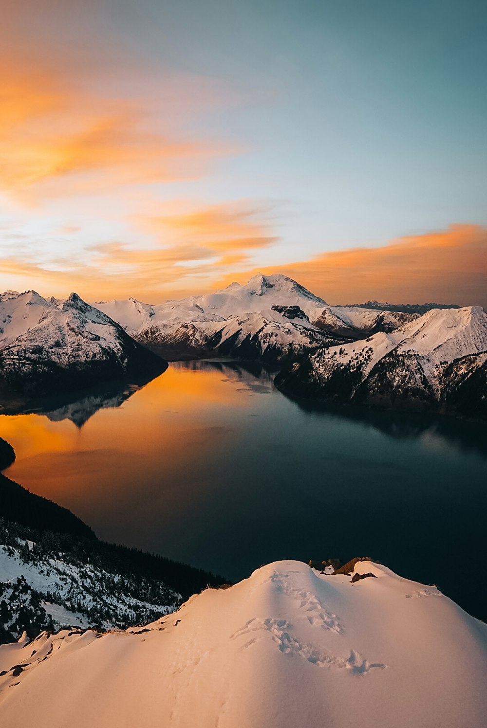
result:
<svg viewBox="0 0 487 728"><path fill-rule="evenodd" d="M433 309L391 333L322 349L276 377L324 400L487 414L487 314Z"/></svg>

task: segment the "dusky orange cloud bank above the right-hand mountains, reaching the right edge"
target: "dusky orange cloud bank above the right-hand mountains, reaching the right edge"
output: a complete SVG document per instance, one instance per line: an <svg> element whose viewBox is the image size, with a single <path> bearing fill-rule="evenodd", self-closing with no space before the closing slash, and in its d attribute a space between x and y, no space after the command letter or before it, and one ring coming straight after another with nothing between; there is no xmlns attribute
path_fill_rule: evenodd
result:
<svg viewBox="0 0 487 728"><path fill-rule="evenodd" d="M338 250L259 270L289 275L331 304L375 299L487 307L487 228L452 225L382 248ZM255 272L240 274L242 282ZM215 287L233 280L229 275Z"/></svg>

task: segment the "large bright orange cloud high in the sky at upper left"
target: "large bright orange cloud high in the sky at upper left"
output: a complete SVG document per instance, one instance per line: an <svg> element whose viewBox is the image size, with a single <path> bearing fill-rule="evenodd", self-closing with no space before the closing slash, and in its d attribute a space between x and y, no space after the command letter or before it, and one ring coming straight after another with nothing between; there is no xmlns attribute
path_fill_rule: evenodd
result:
<svg viewBox="0 0 487 728"><path fill-rule="evenodd" d="M169 182L203 174L209 159L237 151L174 130L174 90L157 101L88 89L77 74L0 58L0 190L33 202L93 194L127 183ZM178 79L181 106L195 79ZM185 85L186 84L186 85ZM93 85L93 84L91 84ZM211 84L200 84L211 95Z"/></svg>

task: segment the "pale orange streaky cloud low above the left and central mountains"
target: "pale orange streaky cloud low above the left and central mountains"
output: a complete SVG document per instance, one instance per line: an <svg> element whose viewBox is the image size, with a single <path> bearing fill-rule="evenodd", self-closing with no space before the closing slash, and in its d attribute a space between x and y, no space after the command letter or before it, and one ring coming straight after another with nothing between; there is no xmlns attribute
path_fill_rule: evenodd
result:
<svg viewBox="0 0 487 728"><path fill-rule="evenodd" d="M124 242L91 245L85 253L42 262L35 245L20 247L1 262L9 288L41 288L66 296L76 290L88 300L137 296L160 301L211 288L216 275L248 264L250 253L275 242L265 208L255 202L200 207L179 215L136 216L133 221L155 234L158 247L134 248Z"/></svg>

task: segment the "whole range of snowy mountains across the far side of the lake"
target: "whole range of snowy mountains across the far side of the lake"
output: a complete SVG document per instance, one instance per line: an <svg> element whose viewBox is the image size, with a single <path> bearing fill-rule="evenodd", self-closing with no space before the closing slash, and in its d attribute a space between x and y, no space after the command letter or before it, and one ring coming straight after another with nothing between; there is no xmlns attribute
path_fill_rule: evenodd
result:
<svg viewBox="0 0 487 728"><path fill-rule="evenodd" d="M228 357L280 369L276 385L289 395L483 417L485 320L478 307L330 306L281 274L153 306L7 291L0 296L0 400L15 411L22 397L54 388L154 376L165 368L160 357ZM129 395L114 392L112 402ZM90 407L107 401L87 398L91 404L71 414L81 424Z"/></svg>

